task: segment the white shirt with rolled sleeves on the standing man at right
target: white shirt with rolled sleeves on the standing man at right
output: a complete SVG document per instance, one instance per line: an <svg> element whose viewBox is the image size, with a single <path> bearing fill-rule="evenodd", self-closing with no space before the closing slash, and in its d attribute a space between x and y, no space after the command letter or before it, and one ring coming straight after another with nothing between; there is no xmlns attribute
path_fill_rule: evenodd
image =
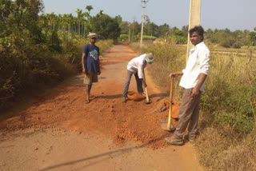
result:
<svg viewBox="0 0 256 171"><path fill-rule="evenodd" d="M210 68L210 50L207 48L204 42L198 43L192 50L190 50L190 57L186 63L186 69L182 70L183 75L181 85L185 89L194 88L198 83L199 74L209 74ZM203 82L200 90L205 88L205 82Z"/></svg>

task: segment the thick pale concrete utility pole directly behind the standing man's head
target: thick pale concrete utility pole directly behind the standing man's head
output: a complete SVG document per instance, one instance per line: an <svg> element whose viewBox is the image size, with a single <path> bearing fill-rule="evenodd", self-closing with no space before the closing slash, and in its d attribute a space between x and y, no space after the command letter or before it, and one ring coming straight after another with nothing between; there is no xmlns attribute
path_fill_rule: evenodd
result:
<svg viewBox="0 0 256 171"><path fill-rule="evenodd" d="M190 0L190 21L189 21L189 30L194 26L200 25L201 19L201 0ZM190 33L187 37L187 50L186 50L186 61L190 55L190 49L193 48L192 43L190 42Z"/></svg>

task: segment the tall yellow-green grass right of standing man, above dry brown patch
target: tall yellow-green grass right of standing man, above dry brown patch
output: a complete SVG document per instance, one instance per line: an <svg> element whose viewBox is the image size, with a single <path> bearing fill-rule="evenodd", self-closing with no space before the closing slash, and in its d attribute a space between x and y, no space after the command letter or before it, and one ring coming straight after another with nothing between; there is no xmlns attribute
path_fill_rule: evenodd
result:
<svg viewBox="0 0 256 171"><path fill-rule="evenodd" d="M255 129L256 79L255 60L212 56L202 109L215 116L221 125L230 125L238 132ZM234 68L235 70L230 70Z"/></svg>

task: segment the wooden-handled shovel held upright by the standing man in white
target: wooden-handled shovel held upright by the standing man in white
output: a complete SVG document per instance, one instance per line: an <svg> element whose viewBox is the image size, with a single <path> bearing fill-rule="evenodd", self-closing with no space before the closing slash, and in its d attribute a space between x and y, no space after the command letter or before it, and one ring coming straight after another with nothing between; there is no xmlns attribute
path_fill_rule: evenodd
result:
<svg viewBox="0 0 256 171"><path fill-rule="evenodd" d="M171 110L172 110L172 101L173 101L173 82L174 78L170 78L170 107L169 107L169 116L168 121L160 121L161 128L167 131L174 131L174 125L171 124Z"/></svg>

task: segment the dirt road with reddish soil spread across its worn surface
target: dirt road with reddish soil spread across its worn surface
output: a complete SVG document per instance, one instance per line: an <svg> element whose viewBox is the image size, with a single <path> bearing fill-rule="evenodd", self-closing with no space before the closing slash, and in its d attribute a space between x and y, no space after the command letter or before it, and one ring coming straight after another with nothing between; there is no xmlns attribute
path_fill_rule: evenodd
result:
<svg viewBox="0 0 256 171"><path fill-rule="evenodd" d="M171 133L159 121L168 111L154 110L167 94L150 75L150 105L121 101L126 65L136 56L129 46L113 46L102 56L89 104L78 75L8 113L0 122L0 170L202 170L193 146L163 140ZM136 90L134 78L130 90Z"/></svg>

